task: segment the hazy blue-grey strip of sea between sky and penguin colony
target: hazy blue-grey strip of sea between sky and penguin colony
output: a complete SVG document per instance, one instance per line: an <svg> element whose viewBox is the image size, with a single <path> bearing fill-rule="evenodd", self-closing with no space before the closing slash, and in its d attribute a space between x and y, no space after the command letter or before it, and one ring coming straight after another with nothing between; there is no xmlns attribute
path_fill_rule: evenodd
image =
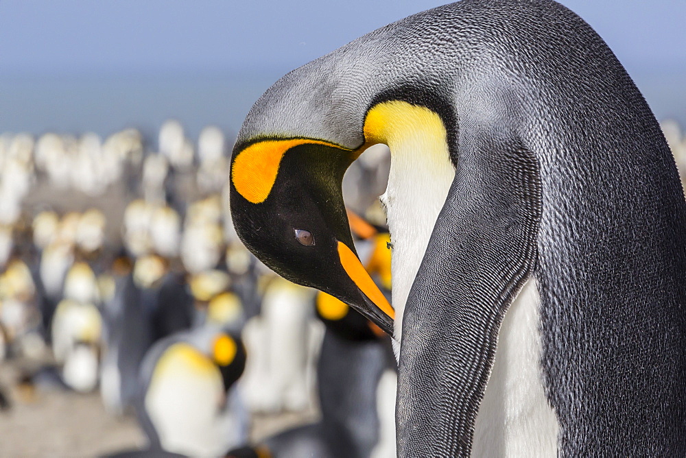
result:
<svg viewBox="0 0 686 458"><path fill-rule="evenodd" d="M0 77L0 133L106 137L137 128L155 149L162 123L178 119L193 141L206 125L217 125L233 141L252 104L283 73ZM632 77L658 121L675 119L686 127L683 72Z"/></svg>

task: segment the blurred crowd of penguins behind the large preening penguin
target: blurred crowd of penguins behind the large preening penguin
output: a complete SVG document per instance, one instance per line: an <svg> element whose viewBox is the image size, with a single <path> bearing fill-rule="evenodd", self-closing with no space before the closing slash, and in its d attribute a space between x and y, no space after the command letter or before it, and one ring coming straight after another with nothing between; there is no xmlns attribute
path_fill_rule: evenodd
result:
<svg viewBox="0 0 686 458"><path fill-rule="evenodd" d="M206 128L193 145L168 121L158 149L135 130L105 141L53 133L1 140L3 163L19 164L3 169L16 175L3 186L26 183L7 191L12 211L0 215L0 355L16 374L0 378L6 418L74 391L138 422L143 448L99 449L106 455L224 456L248 447L297 457L316 446L331 456L351 448L359 451L347 456L394 455L390 339L336 300L319 307L320 317L313 290L279 278L238 241L220 130ZM95 172L84 171L84 154L103 167L93 182L104 186L88 187L84 176ZM351 208L366 217L351 211L351 224L370 272L390 289L383 212L370 206L389 156L366 157L348 178ZM351 317L362 337L336 324ZM331 326L344 333L333 349L324 331ZM320 405L329 412L321 421ZM343 439L334 434L340 424L349 431Z"/></svg>

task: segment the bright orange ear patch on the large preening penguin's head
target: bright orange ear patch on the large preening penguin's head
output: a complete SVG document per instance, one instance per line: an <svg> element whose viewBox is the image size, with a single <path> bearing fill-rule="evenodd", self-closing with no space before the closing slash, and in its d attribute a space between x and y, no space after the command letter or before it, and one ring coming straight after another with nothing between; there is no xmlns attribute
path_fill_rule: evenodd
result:
<svg viewBox="0 0 686 458"><path fill-rule="evenodd" d="M326 145L341 148L333 143L311 138L291 138L289 140L265 140L246 147L236 156L231 166L231 181L236 191L248 202L260 204L272 191L283 155L298 145Z"/></svg>

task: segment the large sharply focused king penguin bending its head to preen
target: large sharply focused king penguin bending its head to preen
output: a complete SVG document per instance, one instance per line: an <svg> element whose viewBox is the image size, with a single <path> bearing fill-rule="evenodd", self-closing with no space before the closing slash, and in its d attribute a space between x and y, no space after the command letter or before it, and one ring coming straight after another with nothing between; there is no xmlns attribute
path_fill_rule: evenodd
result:
<svg viewBox="0 0 686 458"><path fill-rule="evenodd" d="M341 181L391 151L392 302ZM463 0L288 73L233 150L239 237L393 333L399 456L685 455L686 204L648 104L552 0Z"/></svg>

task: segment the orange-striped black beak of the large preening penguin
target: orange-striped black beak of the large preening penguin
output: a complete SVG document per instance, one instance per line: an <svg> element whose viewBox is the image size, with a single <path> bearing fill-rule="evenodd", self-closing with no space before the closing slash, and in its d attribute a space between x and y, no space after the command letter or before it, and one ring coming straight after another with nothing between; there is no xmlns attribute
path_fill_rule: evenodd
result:
<svg viewBox="0 0 686 458"><path fill-rule="evenodd" d="M338 256L345 273L362 293L364 304L356 304L360 311L388 335L393 335L395 311L386 300L386 296L383 296L353 250L342 241L338 241Z"/></svg>

